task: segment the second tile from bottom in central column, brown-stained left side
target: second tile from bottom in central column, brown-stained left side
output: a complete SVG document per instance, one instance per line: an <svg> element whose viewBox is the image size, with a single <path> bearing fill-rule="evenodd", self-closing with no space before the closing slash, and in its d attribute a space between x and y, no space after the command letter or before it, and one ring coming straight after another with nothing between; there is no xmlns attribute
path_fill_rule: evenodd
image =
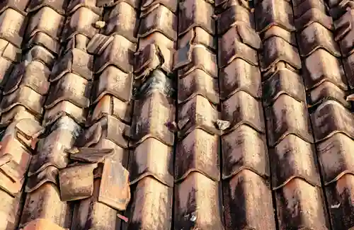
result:
<svg viewBox="0 0 354 230"><path fill-rule="evenodd" d="M178 142L175 180L188 180L194 172L219 181L219 137L196 128ZM183 182L182 182L183 183Z"/></svg>

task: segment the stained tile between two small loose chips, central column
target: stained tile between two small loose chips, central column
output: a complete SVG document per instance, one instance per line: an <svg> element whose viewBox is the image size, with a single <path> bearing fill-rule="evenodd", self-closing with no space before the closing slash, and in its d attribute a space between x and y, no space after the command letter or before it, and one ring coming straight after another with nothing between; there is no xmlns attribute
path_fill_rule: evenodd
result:
<svg viewBox="0 0 354 230"><path fill-rule="evenodd" d="M183 139L196 128L219 134L216 122L219 119L217 107L207 98L197 95L183 105L178 105L178 138Z"/></svg>

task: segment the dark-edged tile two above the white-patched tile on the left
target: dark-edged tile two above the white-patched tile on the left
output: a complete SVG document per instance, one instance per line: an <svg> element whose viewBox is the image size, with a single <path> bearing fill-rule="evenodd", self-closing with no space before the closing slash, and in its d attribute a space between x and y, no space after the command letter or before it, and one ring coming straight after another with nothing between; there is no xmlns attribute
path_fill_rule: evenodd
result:
<svg viewBox="0 0 354 230"><path fill-rule="evenodd" d="M69 100L81 108L88 108L90 91L90 81L76 74L65 74L59 81L52 83L45 103L45 109L52 108L62 100Z"/></svg>

